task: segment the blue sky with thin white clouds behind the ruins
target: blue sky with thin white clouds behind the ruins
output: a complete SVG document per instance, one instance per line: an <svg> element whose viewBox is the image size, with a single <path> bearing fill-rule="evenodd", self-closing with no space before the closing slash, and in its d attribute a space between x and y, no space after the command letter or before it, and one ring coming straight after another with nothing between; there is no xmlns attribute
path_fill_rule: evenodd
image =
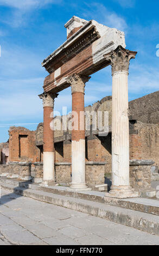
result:
<svg viewBox="0 0 159 256"><path fill-rule="evenodd" d="M35 130L43 121L37 95L48 73L41 62L66 40L63 25L73 15L124 31L126 48L138 51L130 63L129 100L158 90L158 9L157 0L0 0L0 142L8 140L11 125ZM86 84L85 105L106 95L111 95L110 66ZM62 105L71 110L70 88L59 94L55 110Z"/></svg>

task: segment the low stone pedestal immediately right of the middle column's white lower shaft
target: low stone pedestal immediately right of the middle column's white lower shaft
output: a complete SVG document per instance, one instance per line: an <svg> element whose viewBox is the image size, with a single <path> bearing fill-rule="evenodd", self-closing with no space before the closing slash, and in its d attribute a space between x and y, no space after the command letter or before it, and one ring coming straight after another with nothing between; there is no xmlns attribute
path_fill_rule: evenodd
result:
<svg viewBox="0 0 159 256"><path fill-rule="evenodd" d="M86 162L86 184L94 188L96 185L104 184L106 162Z"/></svg>

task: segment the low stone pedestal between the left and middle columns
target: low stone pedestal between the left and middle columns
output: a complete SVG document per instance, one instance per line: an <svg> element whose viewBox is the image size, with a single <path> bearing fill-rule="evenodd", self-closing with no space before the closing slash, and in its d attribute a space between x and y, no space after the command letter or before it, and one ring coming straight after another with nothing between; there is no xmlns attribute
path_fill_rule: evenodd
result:
<svg viewBox="0 0 159 256"><path fill-rule="evenodd" d="M70 183L72 181L71 178L71 163L69 162L61 162L55 163L55 175L57 183Z"/></svg>

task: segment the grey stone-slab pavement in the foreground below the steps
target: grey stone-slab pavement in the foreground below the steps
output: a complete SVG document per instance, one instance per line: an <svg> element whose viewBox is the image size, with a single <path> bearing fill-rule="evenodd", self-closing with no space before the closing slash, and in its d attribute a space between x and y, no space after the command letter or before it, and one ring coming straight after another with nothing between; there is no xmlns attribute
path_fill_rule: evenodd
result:
<svg viewBox="0 0 159 256"><path fill-rule="evenodd" d="M159 245L159 236L1 191L0 245Z"/></svg>

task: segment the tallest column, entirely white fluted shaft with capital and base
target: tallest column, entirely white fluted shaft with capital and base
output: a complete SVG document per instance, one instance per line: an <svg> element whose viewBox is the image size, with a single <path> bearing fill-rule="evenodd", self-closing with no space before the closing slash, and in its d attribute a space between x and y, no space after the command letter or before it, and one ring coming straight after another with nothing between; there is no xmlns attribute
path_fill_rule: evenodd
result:
<svg viewBox="0 0 159 256"><path fill-rule="evenodd" d="M135 197L129 182L129 61L137 52L118 46L104 57L112 66L112 186L106 196Z"/></svg>

